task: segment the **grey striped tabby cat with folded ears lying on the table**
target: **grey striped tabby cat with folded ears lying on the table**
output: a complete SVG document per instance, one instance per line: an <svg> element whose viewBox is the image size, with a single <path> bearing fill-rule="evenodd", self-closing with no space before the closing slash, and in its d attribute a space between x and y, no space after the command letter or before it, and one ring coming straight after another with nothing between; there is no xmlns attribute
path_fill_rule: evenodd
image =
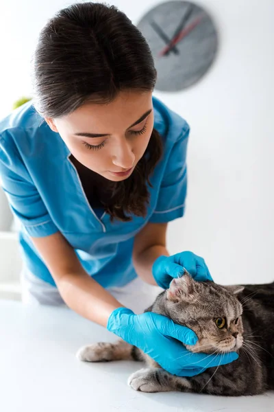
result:
<svg viewBox="0 0 274 412"><path fill-rule="evenodd" d="M136 391L241 396L274 390L274 282L222 286L196 282L185 273L173 279L145 312L163 314L194 330L199 341L185 345L191 352L238 352L239 358L196 376L179 377L122 339L82 347L77 357L88 362L145 361L146 368L129 376Z"/></svg>

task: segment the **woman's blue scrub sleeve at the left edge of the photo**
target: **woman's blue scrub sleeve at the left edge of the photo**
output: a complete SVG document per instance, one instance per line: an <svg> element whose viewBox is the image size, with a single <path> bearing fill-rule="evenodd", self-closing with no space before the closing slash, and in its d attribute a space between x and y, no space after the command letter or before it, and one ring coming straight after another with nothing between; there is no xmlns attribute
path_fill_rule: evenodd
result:
<svg viewBox="0 0 274 412"><path fill-rule="evenodd" d="M58 231L17 152L0 135L0 184L23 229L33 237Z"/></svg>

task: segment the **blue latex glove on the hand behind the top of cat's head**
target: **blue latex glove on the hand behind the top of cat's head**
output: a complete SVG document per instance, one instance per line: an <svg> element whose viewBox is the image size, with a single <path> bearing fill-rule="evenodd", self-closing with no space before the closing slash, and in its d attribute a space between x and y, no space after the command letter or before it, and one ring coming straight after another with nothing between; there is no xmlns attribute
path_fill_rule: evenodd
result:
<svg viewBox="0 0 274 412"><path fill-rule="evenodd" d="M173 277L184 275L184 268L192 275L197 282L203 280L212 280L208 266L203 258L192 252L176 253L172 256L160 256L155 260L152 266L152 275L157 284L168 289Z"/></svg>

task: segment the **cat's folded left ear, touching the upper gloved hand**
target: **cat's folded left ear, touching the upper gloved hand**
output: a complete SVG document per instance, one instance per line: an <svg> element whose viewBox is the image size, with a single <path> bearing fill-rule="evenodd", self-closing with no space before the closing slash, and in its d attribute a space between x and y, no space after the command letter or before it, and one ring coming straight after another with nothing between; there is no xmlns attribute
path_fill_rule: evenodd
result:
<svg viewBox="0 0 274 412"><path fill-rule="evenodd" d="M195 281L188 272L185 272L182 277L172 279L169 289L166 290L166 299L173 302L179 300L193 300L195 297Z"/></svg>

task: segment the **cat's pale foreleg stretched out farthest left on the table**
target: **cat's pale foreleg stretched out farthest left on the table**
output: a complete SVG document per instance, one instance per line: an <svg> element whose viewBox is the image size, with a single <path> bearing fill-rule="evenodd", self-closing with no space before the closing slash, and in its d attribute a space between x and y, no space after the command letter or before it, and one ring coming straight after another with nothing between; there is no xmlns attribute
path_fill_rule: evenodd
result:
<svg viewBox="0 0 274 412"><path fill-rule="evenodd" d="M138 347L119 339L114 343L99 342L81 347L77 354L79 361L110 362L110 361L142 361Z"/></svg>

